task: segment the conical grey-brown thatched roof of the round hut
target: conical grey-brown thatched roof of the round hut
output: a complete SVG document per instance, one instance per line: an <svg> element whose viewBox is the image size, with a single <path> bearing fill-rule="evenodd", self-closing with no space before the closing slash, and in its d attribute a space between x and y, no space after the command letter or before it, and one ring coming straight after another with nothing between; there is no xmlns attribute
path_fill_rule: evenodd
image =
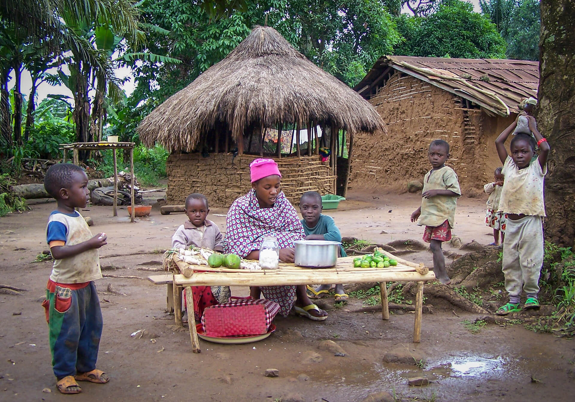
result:
<svg viewBox="0 0 575 402"><path fill-rule="evenodd" d="M296 51L275 29L258 26L224 60L170 96L140 123L141 141L190 152L200 136L308 121L348 133L386 131L354 90ZM246 133L247 134L247 133Z"/></svg>

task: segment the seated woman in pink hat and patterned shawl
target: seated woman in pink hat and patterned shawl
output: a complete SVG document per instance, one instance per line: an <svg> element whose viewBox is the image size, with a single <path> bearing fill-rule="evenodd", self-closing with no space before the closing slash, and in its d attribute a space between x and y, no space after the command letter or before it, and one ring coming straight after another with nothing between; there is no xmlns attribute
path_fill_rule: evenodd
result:
<svg viewBox="0 0 575 402"><path fill-rule="evenodd" d="M252 189L236 199L226 219L224 250L247 260L257 260L262 238L275 236L279 243L279 259L294 261L293 242L305 239L304 228L296 208L279 190L282 177L273 159L256 159L250 164ZM294 307L297 315L322 321L327 312L309 299L305 285L252 287L250 295L258 299L260 291L268 300L279 303L279 312L287 316Z"/></svg>

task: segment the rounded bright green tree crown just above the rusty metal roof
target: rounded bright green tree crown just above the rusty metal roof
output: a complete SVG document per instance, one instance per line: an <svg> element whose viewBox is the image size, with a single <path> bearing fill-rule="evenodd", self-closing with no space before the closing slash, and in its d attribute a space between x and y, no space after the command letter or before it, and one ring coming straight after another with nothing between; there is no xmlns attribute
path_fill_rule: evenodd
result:
<svg viewBox="0 0 575 402"><path fill-rule="evenodd" d="M473 12L470 3L444 0L427 17L402 14L397 29L405 41L396 55L500 59L505 57L505 41L488 17Z"/></svg>

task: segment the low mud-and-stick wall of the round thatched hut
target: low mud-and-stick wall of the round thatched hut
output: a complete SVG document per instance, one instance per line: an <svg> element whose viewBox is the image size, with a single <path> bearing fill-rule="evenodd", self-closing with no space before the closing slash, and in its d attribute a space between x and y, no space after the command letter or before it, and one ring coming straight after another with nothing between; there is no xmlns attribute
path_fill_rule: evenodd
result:
<svg viewBox="0 0 575 402"><path fill-rule="evenodd" d="M201 192L210 207L229 207L233 200L250 190L250 163L258 156L213 153L204 158L200 153L168 156L167 202L183 204L193 192ZM319 156L273 158L282 173L281 190L292 203L298 203L305 191L335 193L336 177L329 172L329 163Z"/></svg>

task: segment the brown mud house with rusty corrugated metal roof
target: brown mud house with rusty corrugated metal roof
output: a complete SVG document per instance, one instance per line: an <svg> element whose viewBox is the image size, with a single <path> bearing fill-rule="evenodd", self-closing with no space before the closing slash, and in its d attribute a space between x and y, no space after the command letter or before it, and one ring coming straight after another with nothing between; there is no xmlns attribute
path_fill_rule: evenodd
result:
<svg viewBox="0 0 575 402"><path fill-rule="evenodd" d="M404 189L423 179L428 146L441 138L464 193L482 192L501 165L495 139L538 85L537 61L381 57L354 89L385 116L389 133L356 138L351 185Z"/></svg>

